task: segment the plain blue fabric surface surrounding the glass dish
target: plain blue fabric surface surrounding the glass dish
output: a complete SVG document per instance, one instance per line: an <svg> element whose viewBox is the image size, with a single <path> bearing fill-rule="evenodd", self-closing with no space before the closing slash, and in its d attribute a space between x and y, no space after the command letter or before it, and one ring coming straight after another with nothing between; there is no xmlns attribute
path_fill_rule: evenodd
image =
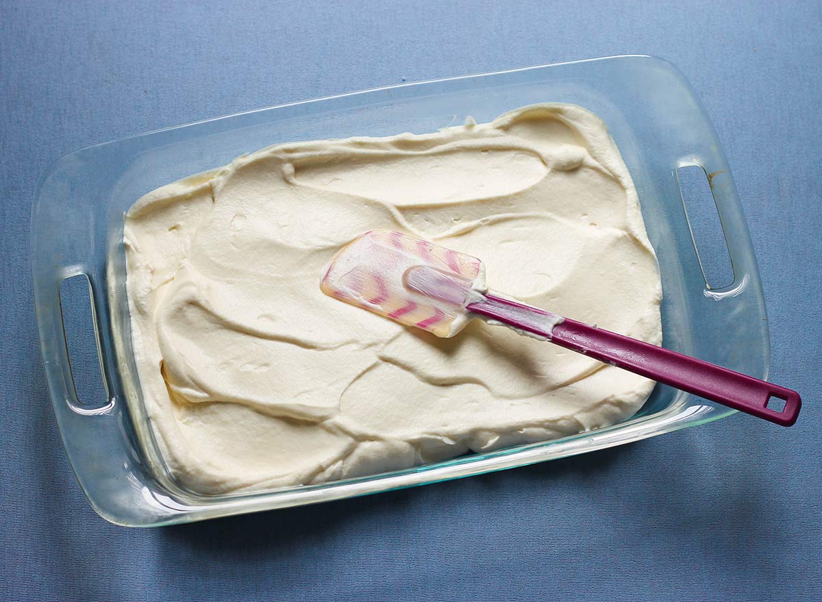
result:
<svg viewBox="0 0 822 602"><path fill-rule="evenodd" d="M820 6L2 0L0 598L820 600ZM291 100L619 53L676 63L713 118L760 260L772 378L806 401L796 427L737 415L189 526L128 530L95 515L35 338L29 213L50 161Z"/></svg>

